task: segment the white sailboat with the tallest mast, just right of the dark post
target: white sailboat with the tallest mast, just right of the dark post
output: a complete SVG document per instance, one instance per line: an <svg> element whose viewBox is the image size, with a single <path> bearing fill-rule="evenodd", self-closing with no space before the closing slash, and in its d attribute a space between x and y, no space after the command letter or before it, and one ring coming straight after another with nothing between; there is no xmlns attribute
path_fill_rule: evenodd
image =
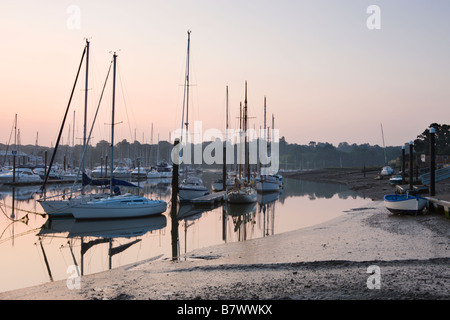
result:
<svg viewBox="0 0 450 320"><path fill-rule="evenodd" d="M188 30L188 44L187 44L187 56L186 56L186 76L184 81L184 102L186 102L186 122L184 122L184 102L183 102L183 116L181 123L181 144L183 139L183 125L186 126L186 137L189 132L189 53L191 43L191 31ZM186 139L187 140L187 139ZM187 141L186 141L187 142ZM187 170L189 171L189 170ZM202 197L209 194L208 189L203 185L202 179L199 177L188 176L178 186L178 198L180 201L190 201L192 199Z"/></svg>

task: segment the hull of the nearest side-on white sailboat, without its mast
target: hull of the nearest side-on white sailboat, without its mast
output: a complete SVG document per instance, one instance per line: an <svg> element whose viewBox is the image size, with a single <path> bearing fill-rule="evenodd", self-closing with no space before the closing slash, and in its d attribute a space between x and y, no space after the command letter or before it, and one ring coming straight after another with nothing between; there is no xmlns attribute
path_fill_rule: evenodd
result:
<svg viewBox="0 0 450 320"><path fill-rule="evenodd" d="M119 219L158 215L167 209L167 203L162 200L146 200L142 202L141 197L126 195L105 198L75 205L72 214L75 219Z"/></svg>

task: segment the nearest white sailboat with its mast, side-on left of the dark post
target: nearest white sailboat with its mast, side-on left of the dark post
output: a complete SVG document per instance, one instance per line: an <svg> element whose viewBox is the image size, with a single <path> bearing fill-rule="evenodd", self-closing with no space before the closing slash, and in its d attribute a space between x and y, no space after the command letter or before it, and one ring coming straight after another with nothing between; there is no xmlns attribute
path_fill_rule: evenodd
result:
<svg viewBox="0 0 450 320"><path fill-rule="evenodd" d="M114 161L114 107L116 86L117 54L113 55L113 97L111 121L111 182L109 197L83 202L72 206L75 219L112 219L135 218L159 215L166 211L167 203L163 200L150 200L141 195L114 195L113 193L113 161Z"/></svg>

